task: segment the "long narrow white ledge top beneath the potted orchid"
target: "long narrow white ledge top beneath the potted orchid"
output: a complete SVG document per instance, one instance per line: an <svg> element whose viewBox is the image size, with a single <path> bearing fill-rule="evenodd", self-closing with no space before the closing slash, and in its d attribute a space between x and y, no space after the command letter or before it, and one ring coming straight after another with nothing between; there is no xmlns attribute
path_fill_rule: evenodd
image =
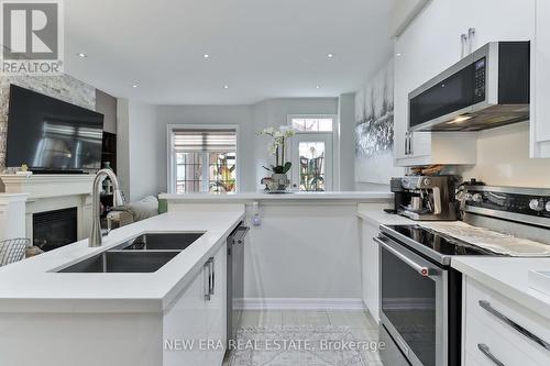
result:
<svg viewBox="0 0 550 366"><path fill-rule="evenodd" d="M394 198L389 191L328 191L328 192L292 192L292 193L266 193L242 192L242 193L163 193L158 198L168 201L196 201L196 202L220 202L220 201L262 201L262 200L351 200L351 201L387 201Z"/></svg>

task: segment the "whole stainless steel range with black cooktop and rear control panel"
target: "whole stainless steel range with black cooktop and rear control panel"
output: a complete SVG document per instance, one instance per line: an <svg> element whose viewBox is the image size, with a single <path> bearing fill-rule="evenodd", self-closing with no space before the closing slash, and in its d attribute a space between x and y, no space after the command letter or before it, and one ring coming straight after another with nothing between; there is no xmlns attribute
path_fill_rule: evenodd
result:
<svg viewBox="0 0 550 366"><path fill-rule="evenodd" d="M429 224L382 225L380 245L381 353L392 366L461 365L461 274L453 256L496 256L475 244L479 230L550 244L550 190L464 186L462 239ZM452 224L452 223L451 223ZM463 224L463 223L459 223ZM433 225L432 226L437 226ZM532 255L527 253L526 256Z"/></svg>

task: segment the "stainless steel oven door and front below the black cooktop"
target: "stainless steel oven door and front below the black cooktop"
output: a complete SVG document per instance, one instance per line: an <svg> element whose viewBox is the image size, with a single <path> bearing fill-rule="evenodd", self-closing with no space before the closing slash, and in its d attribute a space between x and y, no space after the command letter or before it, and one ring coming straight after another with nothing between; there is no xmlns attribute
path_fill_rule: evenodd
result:
<svg viewBox="0 0 550 366"><path fill-rule="evenodd" d="M416 225L383 225L375 241L380 245L381 324L394 346L394 352L382 353L383 361L396 364L397 348L403 365L460 365L462 276L450 267L450 254L484 253ZM449 252L437 253L421 243Z"/></svg>

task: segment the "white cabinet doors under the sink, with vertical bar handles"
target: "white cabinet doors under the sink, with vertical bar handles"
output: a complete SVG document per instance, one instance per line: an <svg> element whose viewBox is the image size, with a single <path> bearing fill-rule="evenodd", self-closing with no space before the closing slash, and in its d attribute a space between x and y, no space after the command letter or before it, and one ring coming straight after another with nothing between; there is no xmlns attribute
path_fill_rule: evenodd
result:
<svg viewBox="0 0 550 366"><path fill-rule="evenodd" d="M227 245L223 244L165 312L164 366L222 364L227 342L226 266ZM173 350L167 346L170 342Z"/></svg>

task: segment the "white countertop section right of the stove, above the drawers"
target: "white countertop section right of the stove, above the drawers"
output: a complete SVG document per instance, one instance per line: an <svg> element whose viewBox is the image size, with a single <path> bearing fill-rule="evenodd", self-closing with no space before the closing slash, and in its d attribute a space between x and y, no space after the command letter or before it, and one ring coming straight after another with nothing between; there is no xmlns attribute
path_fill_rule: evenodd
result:
<svg viewBox="0 0 550 366"><path fill-rule="evenodd" d="M460 256L451 267L550 319L550 297L529 288L529 270L550 269L550 258Z"/></svg>

